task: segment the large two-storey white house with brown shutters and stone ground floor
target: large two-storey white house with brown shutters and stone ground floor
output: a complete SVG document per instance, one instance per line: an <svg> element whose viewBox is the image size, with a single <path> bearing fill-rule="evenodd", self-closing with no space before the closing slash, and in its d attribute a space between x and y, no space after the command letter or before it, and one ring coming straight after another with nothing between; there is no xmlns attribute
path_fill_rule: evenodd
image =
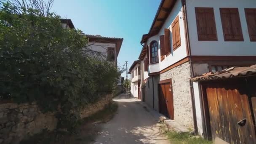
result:
<svg viewBox="0 0 256 144"><path fill-rule="evenodd" d="M255 28L256 0L161 0L149 32L141 38L142 99L205 138L219 137L230 143L244 141L232 133L214 131L209 125L213 119L205 115L207 109L203 105L203 100L213 100L205 99L202 88L191 78L256 64ZM225 126L237 128L235 122ZM234 129L234 133L241 131ZM243 132L242 135L255 135L249 129ZM250 143L248 139L254 138L248 136L242 143Z"/></svg>

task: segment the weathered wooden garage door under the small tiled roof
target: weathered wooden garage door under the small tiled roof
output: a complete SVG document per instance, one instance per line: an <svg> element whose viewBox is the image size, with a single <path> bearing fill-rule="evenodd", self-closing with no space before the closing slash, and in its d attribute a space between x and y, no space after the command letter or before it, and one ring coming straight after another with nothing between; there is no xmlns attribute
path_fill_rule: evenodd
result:
<svg viewBox="0 0 256 144"><path fill-rule="evenodd" d="M211 133L231 144L255 144L255 128L247 90L239 83L206 87Z"/></svg>

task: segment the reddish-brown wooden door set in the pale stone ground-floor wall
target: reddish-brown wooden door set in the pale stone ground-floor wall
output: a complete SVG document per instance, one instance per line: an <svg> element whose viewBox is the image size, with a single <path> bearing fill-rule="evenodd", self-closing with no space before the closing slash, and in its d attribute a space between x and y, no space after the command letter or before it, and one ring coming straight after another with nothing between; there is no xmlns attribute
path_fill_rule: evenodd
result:
<svg viewBox="0 0 256 144"><path fill-rule="evenodd" d="M159 84L159 109L160 113L174 120L171 82Z"/></svg>

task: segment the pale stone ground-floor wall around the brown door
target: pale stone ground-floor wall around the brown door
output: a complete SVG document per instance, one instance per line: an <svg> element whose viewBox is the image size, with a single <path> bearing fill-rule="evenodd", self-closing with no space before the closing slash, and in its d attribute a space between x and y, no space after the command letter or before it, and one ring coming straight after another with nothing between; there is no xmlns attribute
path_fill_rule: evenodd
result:
<svg viewBox="0 0 256 144"><path fill-rule="evenodd" d="M193 128L192 101L190 95L190 64L181 64L160 74L160 80L172 79L174 120Z"/></svg>

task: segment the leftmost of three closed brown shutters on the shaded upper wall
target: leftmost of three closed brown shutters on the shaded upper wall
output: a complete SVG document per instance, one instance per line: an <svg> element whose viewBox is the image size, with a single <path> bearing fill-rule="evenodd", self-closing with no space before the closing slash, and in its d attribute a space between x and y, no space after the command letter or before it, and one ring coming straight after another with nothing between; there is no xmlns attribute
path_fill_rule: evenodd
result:
<svg viewBox="0 0 256 144"><path fill-rule="evenodd" d="M218 40L213 8L195 8L198 40Z"/></svg>

